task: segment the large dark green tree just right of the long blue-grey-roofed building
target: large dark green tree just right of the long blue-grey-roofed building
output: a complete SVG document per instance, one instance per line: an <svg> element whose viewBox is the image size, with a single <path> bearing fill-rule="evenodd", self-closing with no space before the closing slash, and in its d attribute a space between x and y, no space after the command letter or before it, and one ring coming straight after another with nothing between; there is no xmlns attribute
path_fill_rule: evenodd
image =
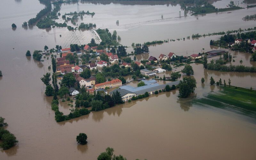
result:
<svg viewBox="0 0 256 160"><path fill-rule="evenodd" d="M195 91L196 79L194 77L183 77L179 83L179 97L187 98Z"/></svg>

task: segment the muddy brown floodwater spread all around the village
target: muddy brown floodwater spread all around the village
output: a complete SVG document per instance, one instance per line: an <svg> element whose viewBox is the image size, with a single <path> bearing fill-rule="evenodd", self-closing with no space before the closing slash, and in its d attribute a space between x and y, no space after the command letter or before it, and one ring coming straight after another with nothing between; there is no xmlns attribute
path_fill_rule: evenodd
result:
<svg viewBox="0 0 256 160"><path fill-rule="evenodd" d="M4 0L2 4L0 6L2 11L0 13L2 20L0 70L2 70L3 77L0 78L0 91L2 91L0 92L0 116L6 118L6 122L9 124L7 129L15 134L19 143L9 150L1 150L0 159L96 159L100 152L103 152L108 146L115 149L116 155L121 154L128 159L256 158L256 120L219 108L192 104L194 98L218 90L217 86L210 86L209 79L211 76L215 80L219 78L228 80L230 78L231 85L246 88L252 86L255 89L255 73L209 71L203 69L202 64L193 63L191 66L195 71L194 77L197 81L197 88L195 94L187 99L179 99L177 97L178 90L174 90L57 123L50 107L52 97L46 97L42 93L45 91L45 86L40 80L43 74L49 72L48 66L51 65L51 61L43 59L44 62L37 62L32 58L25 57L27 50L42 50L44 45L52 48L56 44L52 44L53 41L46 38L46 30L38 29L36 26L27 30L20 27L22 22L34 17L44 5L39 4L39 1L28 0ZM6 7L7 5L8 7ZM137 14L130 11L124 12L124 9L129 10L131 7L145 8L145 10L150 6L156 7L156 9L151 9L151 12L157 11L157 7L158 10L160 7L163 10L164 8L175 10L177 7L177 5L167 6L166 4L136 4L132 6L128 4L93 4L94 7L90 7L88 10L96 13L93 17L96 19L97 7L106 7L105 10L107 10L111 5L113 8L116 7L115 5L123 7L122 12L118 15L113 13L121 17L125 17L124 14ZM28 6L33 6L33 9ZM76 8L76 6L74 7ZM82 4L80 10L83 10ZM74 10L70 9L70 11ZM250 14L251 10L232 11L230 15L234 17L239 12L247 15ZM8 13L12 14L6 17ZM17 17L17 15L21 16ZM161 26L163 29L154 30L154 33L150 29L147 30L147 26L153 25L142 24L141 27L137 27L137 29L140 28L137 32L133 32L132 29L126 30L129 36L124 34L125 31L118 32L118 34L120 33L121 36L122 33L122 41L124 44L130 45L136 39L142 43L165 38L165 36L161 36L164 34L172 37L170 30L176 31L176 35L179 34L183 37L198 32L196 29L201 30L202 33L208 31L211 33L215 29L216 31L219 29L225 31L239 27L249 28L255 25L252 24L253 22L246 21L239 23L239 18L237 18L237 22L235 18L230 18L231 20L223 23L221 16L222 14L216 15L214 13L198 16L198 20L192 16L190 17L191 21L182 18L184 22L173 20L177 23L176 25L173 24L173 27L176 26L176 28L170 29L165 29L165 24L157 23L154 26ZM210 23L211 20L216 22L218 18L220 18L219 25L216 24L216 26L219 29L215 28L216 26L211 28L202 26L202 24L208 25L207 22ZM115 23L116 18L113 19L115 19ZM156 18L153 17L152 19ZM233 23L229 23L232 20ZM10 27L12 23L20 25L17 25L16 30L12 30ZM222 23L223 25L220 25ZM172 24L168 25L169 27L172 26ZM193 25L197 28L188 28L188 26ZM186 32L181 32L181 28L187 28ZM176 38L175 34L173 34L174 38ZM59 33L56 35L59 36ZM147 36L145 37L145 35ZM181 38L180 36L177 38ZM202 37L198 40L186 39L185 41L150 46L149 54L138 55L137 58L148 59L150 55L158 57L160 53L168 54L169 52L186 55L186 51L188 54L192 54L193 50L196 53L200 52L202 48L205 51L215 49L209 45L210 39L218 39L218 36ZM243 59L244 65L255 66L255 63L249 61L248 53L231 52L231 54L236 56L236 61L232 63L238 63L240 59ZM180 71L182 68L183 66L174 70ZM170 75L170 73L164 74ZM163 73L159 75L163 76ZM201 77L205 78L205 84L201 84ZM159 81L159 83L164 82ZM132 85L135 86L136 83ZM59 106L65 114L70 109L67 103L60 103ZM80 132L88 135L87 145L76 144L76 135Z"/></svg>

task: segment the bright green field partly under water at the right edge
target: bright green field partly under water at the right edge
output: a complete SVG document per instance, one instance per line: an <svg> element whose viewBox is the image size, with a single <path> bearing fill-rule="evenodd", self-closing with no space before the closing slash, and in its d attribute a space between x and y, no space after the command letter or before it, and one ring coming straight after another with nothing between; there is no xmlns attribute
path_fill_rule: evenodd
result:
<svg viewBox="0 0 256 160"><path fill-rule="evenodd" d="M256 91L253 90L220 87L220 91L210 92L194 102L256 119Z"/></svg>

